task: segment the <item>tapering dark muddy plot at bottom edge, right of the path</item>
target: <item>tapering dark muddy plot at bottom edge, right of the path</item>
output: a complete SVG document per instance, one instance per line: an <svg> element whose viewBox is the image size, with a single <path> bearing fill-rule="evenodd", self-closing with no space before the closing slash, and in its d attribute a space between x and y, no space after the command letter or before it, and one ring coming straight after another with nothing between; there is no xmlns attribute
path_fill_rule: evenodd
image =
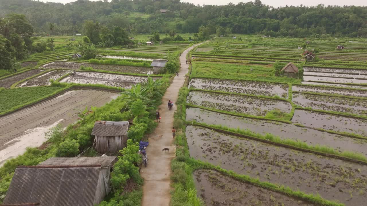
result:
<svg viewBox="0 0 367 206"><path fill-rule="evenodd" d="M214 170L196 170L197 194L206 206L230 205L313 205L287 195L240 182Z"/></svg>

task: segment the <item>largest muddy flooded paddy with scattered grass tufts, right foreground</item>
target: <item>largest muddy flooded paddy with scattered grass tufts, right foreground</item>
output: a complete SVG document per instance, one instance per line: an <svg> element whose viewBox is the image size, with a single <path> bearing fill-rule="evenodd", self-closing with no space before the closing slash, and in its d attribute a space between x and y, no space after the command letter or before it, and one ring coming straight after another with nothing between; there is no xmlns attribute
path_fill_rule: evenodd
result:
<svg viewBox="0 0 367 206"><path fill-rule="evenodd" d="M367 201L367 166L187 126L190 156L348 206Z"/></svg>

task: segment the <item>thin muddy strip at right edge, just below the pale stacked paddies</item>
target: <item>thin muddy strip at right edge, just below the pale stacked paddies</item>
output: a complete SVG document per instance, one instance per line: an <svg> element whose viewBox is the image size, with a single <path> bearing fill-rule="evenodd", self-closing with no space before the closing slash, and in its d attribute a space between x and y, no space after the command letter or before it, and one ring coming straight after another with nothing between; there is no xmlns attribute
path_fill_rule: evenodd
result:
<svg viewBox="0 0 367 206"><path fill-rule="evenodd" d="M361 96L367 97L367 90L355 90L347 88L331 88L331 87L313 87L307 85L292 86L292 91L295 92L317 92L317 93L328 93L338 94L344 96Z"/></svg>

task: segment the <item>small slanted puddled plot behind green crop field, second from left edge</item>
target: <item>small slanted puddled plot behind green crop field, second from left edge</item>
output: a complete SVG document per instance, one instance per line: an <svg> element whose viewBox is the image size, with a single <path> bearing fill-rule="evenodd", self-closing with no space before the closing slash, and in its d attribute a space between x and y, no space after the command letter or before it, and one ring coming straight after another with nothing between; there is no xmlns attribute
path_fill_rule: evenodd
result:
<svg viewBox="0 0 367 206"><path fill-rule="evenodd" d="M23 82L22 84L18 85L19 87L35 87L35 86L45 86L51 85L50 80L56 80L67 73L72 72L72 70L55 70L50 71L46 74L42 74L38 77L34 77L28 81Z"/></svg>

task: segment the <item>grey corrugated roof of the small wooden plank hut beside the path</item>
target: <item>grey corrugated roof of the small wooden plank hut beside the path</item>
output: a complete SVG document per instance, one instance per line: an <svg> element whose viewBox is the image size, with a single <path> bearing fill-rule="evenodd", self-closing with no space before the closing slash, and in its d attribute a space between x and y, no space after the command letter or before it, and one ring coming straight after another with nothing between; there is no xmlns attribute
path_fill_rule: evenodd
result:
<svg viewBox="0 0 367 206"><path fill-rule="evenodd" d="M91 135L97 136L123 136L127 135L129 122L97 121Z"/></svg>

